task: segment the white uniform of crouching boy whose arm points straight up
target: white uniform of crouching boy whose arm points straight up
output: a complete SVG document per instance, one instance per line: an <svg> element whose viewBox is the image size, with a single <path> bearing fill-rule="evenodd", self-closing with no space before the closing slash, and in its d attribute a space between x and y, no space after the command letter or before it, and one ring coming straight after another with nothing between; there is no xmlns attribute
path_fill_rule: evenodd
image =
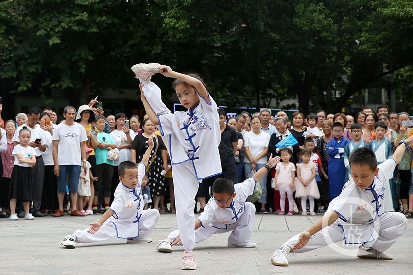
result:
<svg viewBox="0 0 413 275"><path fill-rule="evenodd" d="M145 175L145 165L138 165L138 183L131 189L119 182L115 190L115 199L110 206L114 212L94 234L89 229L76 230L73 234L76 243L92 243L108 240L112 237L122 239L145 238L155 227L159 219L156 209L143 210L143 195L141 191L142 178Z"/></svg>

